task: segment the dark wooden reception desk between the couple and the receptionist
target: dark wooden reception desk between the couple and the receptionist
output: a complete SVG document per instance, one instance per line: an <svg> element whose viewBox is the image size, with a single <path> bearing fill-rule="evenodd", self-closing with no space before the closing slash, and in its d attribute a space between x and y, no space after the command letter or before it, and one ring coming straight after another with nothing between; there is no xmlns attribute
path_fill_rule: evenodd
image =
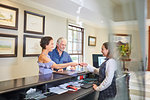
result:
<svg viewBox="0 0 150 100"><path fill-rule="evenodd" d="M91 75L89 72L76 73L67 71L65 73L52 73L1 81L0 100L85 100L85 98L87 98L86 100L94 100L96 93L92 86L80 88L77 91L67 91L62 94L49 92L51 87L79 80L79 76L84 76L86 79ZM34 93L33 91L37 92ZM35 95L35 98L31 98L31 95Z"/></svg>

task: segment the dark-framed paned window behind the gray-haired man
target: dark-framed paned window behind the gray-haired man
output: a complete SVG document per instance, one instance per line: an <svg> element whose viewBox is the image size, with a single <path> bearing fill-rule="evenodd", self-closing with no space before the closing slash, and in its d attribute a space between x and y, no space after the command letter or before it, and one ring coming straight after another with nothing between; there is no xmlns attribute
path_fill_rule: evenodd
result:
<svg viewBox="0 0 150 100"><path fill-rule="evenodd" d="M83 36L83 28L68 25L68 53L74 62L83 61Z"/></svg>

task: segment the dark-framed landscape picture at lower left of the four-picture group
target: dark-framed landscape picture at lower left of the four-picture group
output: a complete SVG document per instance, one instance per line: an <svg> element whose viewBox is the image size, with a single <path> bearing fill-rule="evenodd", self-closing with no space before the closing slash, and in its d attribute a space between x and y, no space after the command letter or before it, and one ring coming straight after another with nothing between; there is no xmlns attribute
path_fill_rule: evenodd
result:
<svg viewBox="0 0 150 100"><path fill-rule="evenodd" d="M0 34L0 57L17 57L18 37Z"/></svg>

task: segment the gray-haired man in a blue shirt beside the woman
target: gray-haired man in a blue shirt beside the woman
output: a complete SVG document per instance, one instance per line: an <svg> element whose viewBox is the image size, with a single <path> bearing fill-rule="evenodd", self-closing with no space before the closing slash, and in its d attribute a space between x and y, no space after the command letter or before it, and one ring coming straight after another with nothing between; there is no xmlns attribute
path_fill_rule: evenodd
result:
<svg viewBox="0 0 150 100"><path fill-rule="evenodd" d="M67 44L67 40L63 37L60 37L57 40L56 48L52 52L48 53L48 55L56 64L72 62L70 55L64 51L66 48L66 44ZM64 68L64 70L66 70L66 68ZM56 71L63 71L63 69L56 70Z"/></svg>

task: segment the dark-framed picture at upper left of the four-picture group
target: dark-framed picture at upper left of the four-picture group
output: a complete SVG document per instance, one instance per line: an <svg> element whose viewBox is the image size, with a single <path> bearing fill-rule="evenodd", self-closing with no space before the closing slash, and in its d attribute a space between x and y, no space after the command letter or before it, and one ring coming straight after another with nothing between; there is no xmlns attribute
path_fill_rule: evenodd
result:
<svg viewBox="0 0 150 100"><path fill-rule="evenodd" d="M18 29L18 8L0 4L0 28Z"/></svg>

